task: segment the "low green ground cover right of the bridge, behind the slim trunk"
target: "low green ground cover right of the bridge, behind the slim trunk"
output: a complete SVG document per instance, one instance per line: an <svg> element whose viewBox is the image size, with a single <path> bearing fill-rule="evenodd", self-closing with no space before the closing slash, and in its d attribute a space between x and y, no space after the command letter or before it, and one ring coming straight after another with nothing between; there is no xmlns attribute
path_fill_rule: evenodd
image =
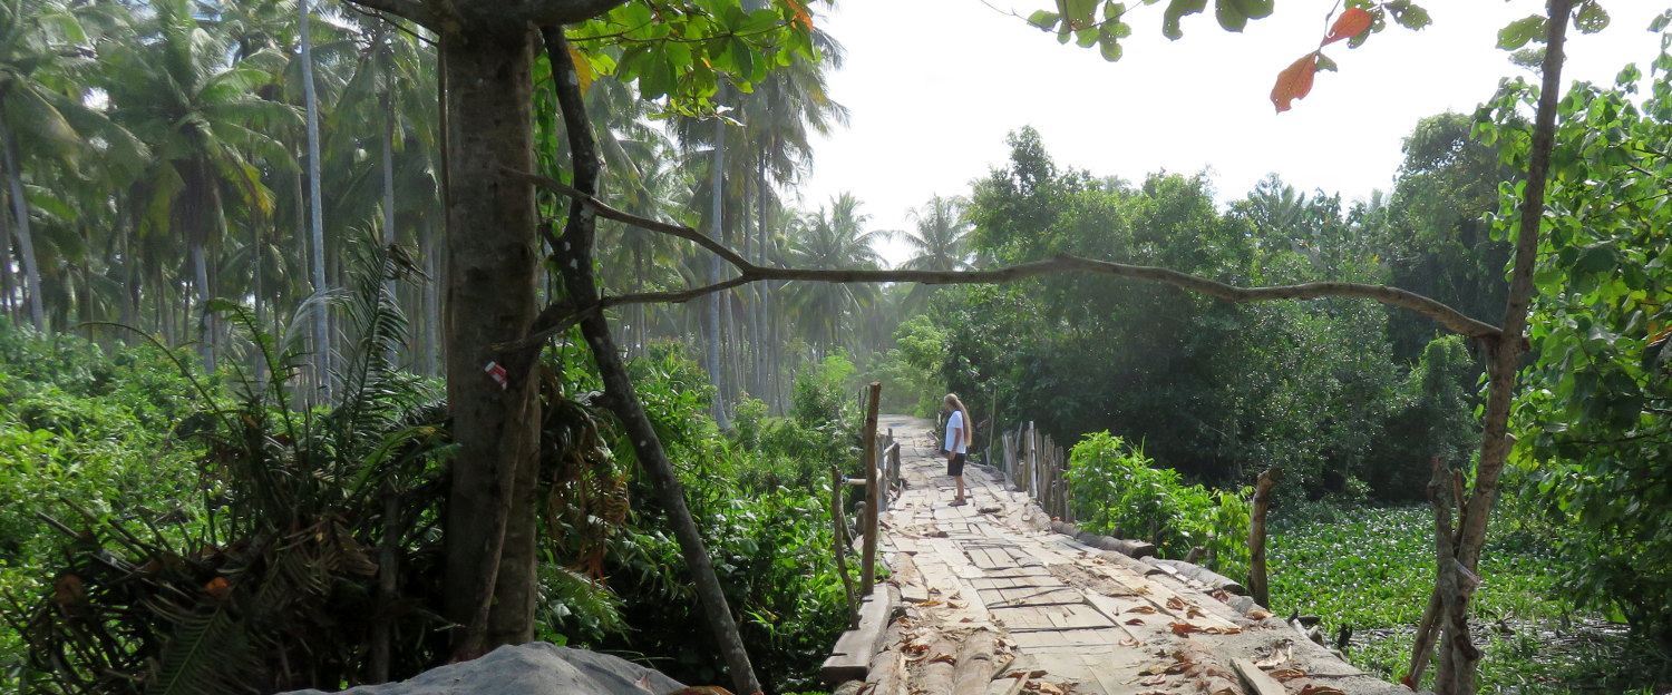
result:
<svg viewBox="0 0 1672 695"><path fill-rule="evenodd" d="M1323 618L1334 643L1353 627L1348 658L1396 680L1433 590L1428 506L1308 505L1274 513L1267 551L1271 603ZM1495 528L1481 556L1473 633L1488 693L1660 693L1672 660L1624 625L1563 601L1552 568L1563 558L1530 531ZM1430 668L1430 677L1433 668Z"/></svg>

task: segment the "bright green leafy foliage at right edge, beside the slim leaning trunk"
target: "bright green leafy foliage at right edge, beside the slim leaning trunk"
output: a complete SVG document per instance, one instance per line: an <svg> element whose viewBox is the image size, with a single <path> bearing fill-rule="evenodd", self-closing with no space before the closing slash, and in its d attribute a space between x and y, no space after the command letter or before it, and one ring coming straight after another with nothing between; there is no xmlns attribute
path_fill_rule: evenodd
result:
<svg viewBox="0 0 1672 695"><path fill-rule="evenodd" d="M1662 17L1665 28L1672 13ZM1613 87L1580 84L1560 102L1550 214L1533 277L1527 398L1517 408L1522 498L1560 525L1562 548L1592 558L1562 590L1617 610L1672 650L1672 35L1649 70ZM1483 107L1481 137L1527 155L1506 84ZM1515 189L1505 187L1505 200ZM1503 217L1510 216L1505 202Z"/></svg>

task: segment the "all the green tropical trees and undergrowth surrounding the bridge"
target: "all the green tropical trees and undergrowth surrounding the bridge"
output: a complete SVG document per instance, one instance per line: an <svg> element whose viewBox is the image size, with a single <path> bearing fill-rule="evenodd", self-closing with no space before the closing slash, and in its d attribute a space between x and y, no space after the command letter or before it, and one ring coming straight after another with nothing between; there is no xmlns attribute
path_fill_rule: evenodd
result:
<svg viewBox="0 0 1672 695"><path fill-rule="evenodd" d="M1408 2L1346 5L1326 45L1428 23ZM1202 8L1169 2L1164 30ZM1057 10L1032 22L1120 57L1124 3ZM1598 12L1573 5L1587 32ZM1077 441L1088 528L1202 546L1231 575L1244 486L1284 469L1274 603L1336 627L1416 618L1297 578L1334 528L1398 553L1329 575L1415 606L1435 535L1409 503L1433 495L1441 526L1470 505L1481 533L1496 506L1491 535L1431 548L1515 576L1476 613L1572 618L1583 640L1624 625L1608 643L1642 655L1630 668L1672 672L1672 15L1613 85L1506 80L1475 114L1423 119L1391 190L1361 200L1281 172L1241 195L1207 172L1124 180L1020 127L906 231L853 194L788 204L848 115L826 80L843 47L806 3L497 18L0 0L0 688L339 687L533 637L689 682L814 687L853 600L818 540L868 381L890 409L956 391L980 429ZM1550 30L1560 57L1560 22L1532 20L1505 45ZM1291 77L1274 102L1304 95ZM888 237L910 257L886 259ZM1525 296L1528 353L1363 299L1227 302L1130 272L824 282L1063 256L1403 287L1475 319L1508 304L1511 327ZM751 264L806 272L739 282ZM1473 503L1446 501L1465 486ZM704 621L716 640L689 640ZM1498 642L1491 660L1540 658ZM1388 633L1359 645L1406 675ZM1493 665L1483 685L1563 668Z"/></svg>

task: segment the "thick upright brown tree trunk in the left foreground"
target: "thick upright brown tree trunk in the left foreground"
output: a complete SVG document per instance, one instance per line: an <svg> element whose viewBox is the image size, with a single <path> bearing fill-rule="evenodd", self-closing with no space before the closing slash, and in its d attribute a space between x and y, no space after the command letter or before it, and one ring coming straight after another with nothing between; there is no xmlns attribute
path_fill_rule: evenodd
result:
<svg viewBox="0 0 1672 695"><path fill-rule="evenodd" d="M532 32L468 10L441 37L446 90L446 394L453 486L446 511L446 616L455 657L533 637L535 464L540 403L530 361L495 349L535 317ZM483 369L507 369L505 384Z"/></svg>

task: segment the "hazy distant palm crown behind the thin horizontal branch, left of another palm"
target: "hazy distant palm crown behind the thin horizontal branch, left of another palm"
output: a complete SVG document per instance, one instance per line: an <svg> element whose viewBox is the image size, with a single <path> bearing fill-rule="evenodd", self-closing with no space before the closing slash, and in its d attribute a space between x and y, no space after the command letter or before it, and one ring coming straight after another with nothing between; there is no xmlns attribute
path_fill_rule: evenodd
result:
<svg viewBox="0 0 1672 695"><path fill-rule="evenodd" d="M869 216L859 212L859 199L844 192L831 205L803 217L799 234L791 241L796 267L834 271L881 266L874 244L884 234L866 231ZM844 317L876 301L869 284L791 282L786 287L798 322L808 331L821 356L841 339Z"/></svg>

